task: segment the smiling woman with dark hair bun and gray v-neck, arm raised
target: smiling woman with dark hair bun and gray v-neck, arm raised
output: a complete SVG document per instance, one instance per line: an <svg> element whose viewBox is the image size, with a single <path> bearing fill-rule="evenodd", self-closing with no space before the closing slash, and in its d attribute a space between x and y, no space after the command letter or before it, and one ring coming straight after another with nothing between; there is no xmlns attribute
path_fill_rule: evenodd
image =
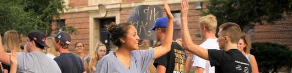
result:
<svg viewBox="0 0 292 73"><path fill-rule="evenodd" d="M144 73L152 59L156 59L170 51L173 36L173 16L168 4L164 1L164 10L168 17L165 40L154 49L138 50L139 37L131 23L111 23L108 28L110 41L118 46L118 50L104 56L96 65L95 73Z"/></svg>

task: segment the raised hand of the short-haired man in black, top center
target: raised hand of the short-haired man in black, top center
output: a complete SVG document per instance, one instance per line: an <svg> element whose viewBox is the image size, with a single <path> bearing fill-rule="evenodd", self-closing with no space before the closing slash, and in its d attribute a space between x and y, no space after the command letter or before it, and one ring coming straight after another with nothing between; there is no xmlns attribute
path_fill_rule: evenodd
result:
<svg viewBox="0 0 292 73"><path fill-rule="evenodd" d="M187 18L187 14L188 14L188 1L187 0L182 0L181 3L181 18Z"/></svg>

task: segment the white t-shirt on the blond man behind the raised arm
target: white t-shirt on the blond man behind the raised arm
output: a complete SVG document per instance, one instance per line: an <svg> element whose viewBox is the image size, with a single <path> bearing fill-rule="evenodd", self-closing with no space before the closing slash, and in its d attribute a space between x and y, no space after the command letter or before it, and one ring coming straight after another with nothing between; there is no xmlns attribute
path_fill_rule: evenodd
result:
<svg viewBox="0 0 292 73"><path fill-rule="evenodd" d="M200 47L203 47L204 49L218 49L219 50L219 44L217 42L217 39L206 39ZM215 73L215 67L211 67L210 61L202 59L201 57L194 55L193 57L193 67L201 67L204 69L204 73Z"/></svg>

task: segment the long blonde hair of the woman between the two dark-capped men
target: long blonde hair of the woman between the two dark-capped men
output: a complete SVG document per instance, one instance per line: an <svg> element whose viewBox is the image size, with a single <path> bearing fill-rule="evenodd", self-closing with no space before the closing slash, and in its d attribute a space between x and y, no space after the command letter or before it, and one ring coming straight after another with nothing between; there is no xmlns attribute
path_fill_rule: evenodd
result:
<svg viewBox="0 0 292 73"><path fill-rule="evenodd" d="M60 55L58 52L55 51L55 47L54 47L55 43L56 43L55 42L55 37L47 37L46 44L50 47L50 48L46 49L47 54L50 53L50 54L52 54L54 56Z"/></svg>

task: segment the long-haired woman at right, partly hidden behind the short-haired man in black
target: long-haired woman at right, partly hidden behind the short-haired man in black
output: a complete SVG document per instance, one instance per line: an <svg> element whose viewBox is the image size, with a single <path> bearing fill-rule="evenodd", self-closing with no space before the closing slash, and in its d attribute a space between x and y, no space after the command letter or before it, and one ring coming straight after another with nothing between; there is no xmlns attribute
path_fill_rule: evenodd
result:
<svg viewBox="0 0 292 73"><path fill-rule="evenodd" d="M251 64L252 67L252 73L258 73L256 58L254 55L250 54L250 50L252 48L250 38L246 34L242 34L240 37L240 40L238 41L237 48L245 57L248 59L248 61Z"/></svg>

